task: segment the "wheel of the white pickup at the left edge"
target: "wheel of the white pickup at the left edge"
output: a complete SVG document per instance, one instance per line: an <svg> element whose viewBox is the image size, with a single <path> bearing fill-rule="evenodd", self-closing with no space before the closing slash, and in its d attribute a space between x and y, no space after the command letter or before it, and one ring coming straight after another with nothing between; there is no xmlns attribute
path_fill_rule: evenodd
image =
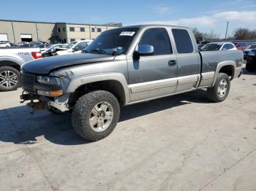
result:
<svg viewBox="0 0 256 191"><path fill-rule="evenodd" d="M12 91L20 87L20 71L10 66L0 67L0 90Z"/></svg>

